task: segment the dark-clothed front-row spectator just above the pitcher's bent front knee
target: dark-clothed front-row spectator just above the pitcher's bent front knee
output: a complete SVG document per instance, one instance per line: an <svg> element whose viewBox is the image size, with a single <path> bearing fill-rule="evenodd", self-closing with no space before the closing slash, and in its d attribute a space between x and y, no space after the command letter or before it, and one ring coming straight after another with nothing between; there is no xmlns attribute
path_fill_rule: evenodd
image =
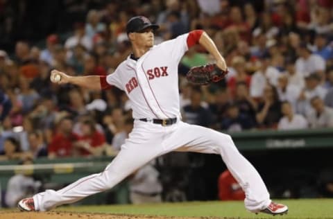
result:
<svg viewBox="0 0 333 219"><path fill-rule="evenodd" d="M230 103L226 109L225 117L221 121L221 129L228 130L229 132L240 132L242 130L250 129L255 126L248 114L239 112L238 105Z"/></svg>

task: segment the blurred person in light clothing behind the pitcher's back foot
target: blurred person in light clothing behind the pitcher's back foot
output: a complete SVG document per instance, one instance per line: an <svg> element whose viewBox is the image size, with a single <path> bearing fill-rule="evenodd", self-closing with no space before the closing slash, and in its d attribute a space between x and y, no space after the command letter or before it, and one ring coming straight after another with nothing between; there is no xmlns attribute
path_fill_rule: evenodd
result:
<svg viewBox="0 0 333 219"><path fill-rule="evenodd" d="M22 165L31 165L33 161L32 159L23 159L21 163ZM34 195L41 186L42 183L35 180L29 173L14 175L8 180L5 202L8 207L16 207L19 200Z"/></svg>

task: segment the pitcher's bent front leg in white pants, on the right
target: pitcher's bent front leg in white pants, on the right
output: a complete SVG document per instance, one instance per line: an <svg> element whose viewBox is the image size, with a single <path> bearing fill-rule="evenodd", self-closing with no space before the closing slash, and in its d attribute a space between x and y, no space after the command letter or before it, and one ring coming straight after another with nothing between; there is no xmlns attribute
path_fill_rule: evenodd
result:
<svg viewBox="0 0 333 219"><path fill-rule="evenodd" d="M182 123L168 141L181 146L173 150L220 154L230 173L245 191L245 205L249 211L265 209L271 203L262 177L237 150L230 135Z"/></svg>

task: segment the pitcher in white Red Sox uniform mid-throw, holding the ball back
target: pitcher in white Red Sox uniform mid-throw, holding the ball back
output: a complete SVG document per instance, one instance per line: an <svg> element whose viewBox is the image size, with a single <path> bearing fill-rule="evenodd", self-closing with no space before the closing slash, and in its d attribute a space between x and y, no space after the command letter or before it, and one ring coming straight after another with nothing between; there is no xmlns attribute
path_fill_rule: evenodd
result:
<svg viewBox="0 0 333 219"><path fill-rule="evenodd" d="M155 157L173 150L221 155L232 176L246 193L248 211L271 215L287 213L284 204L272 202L257 170L234 146L228 134L181 121L178 94L178 63L195 44L203 46L216 64L195 67L188 80L207 84L228 73L225 60L203 30L193 30L154 46L154 30L159 28L146 17L133 17L126 31L133 53L108 76L68 76L53 70L51 81L71 83L87 89L118 87L126 92L133 108L134 128L117 157L101 173L89 175L58 191L46 190L19 201L22 211L48 211L89 195L111 189L122 179Z"/></svg>

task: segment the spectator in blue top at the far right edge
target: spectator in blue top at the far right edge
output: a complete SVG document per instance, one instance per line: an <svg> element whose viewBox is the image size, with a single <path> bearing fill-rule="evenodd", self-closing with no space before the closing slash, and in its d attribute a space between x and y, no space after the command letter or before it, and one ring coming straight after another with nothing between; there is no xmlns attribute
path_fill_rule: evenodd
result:
<svg viewBox="0 0 333 219"><path fill-rule="evenodd" d="M327 45L327 35L316 35L314 38L314 54L320 55L325 61L333 58L332 46Z"/></svg>

